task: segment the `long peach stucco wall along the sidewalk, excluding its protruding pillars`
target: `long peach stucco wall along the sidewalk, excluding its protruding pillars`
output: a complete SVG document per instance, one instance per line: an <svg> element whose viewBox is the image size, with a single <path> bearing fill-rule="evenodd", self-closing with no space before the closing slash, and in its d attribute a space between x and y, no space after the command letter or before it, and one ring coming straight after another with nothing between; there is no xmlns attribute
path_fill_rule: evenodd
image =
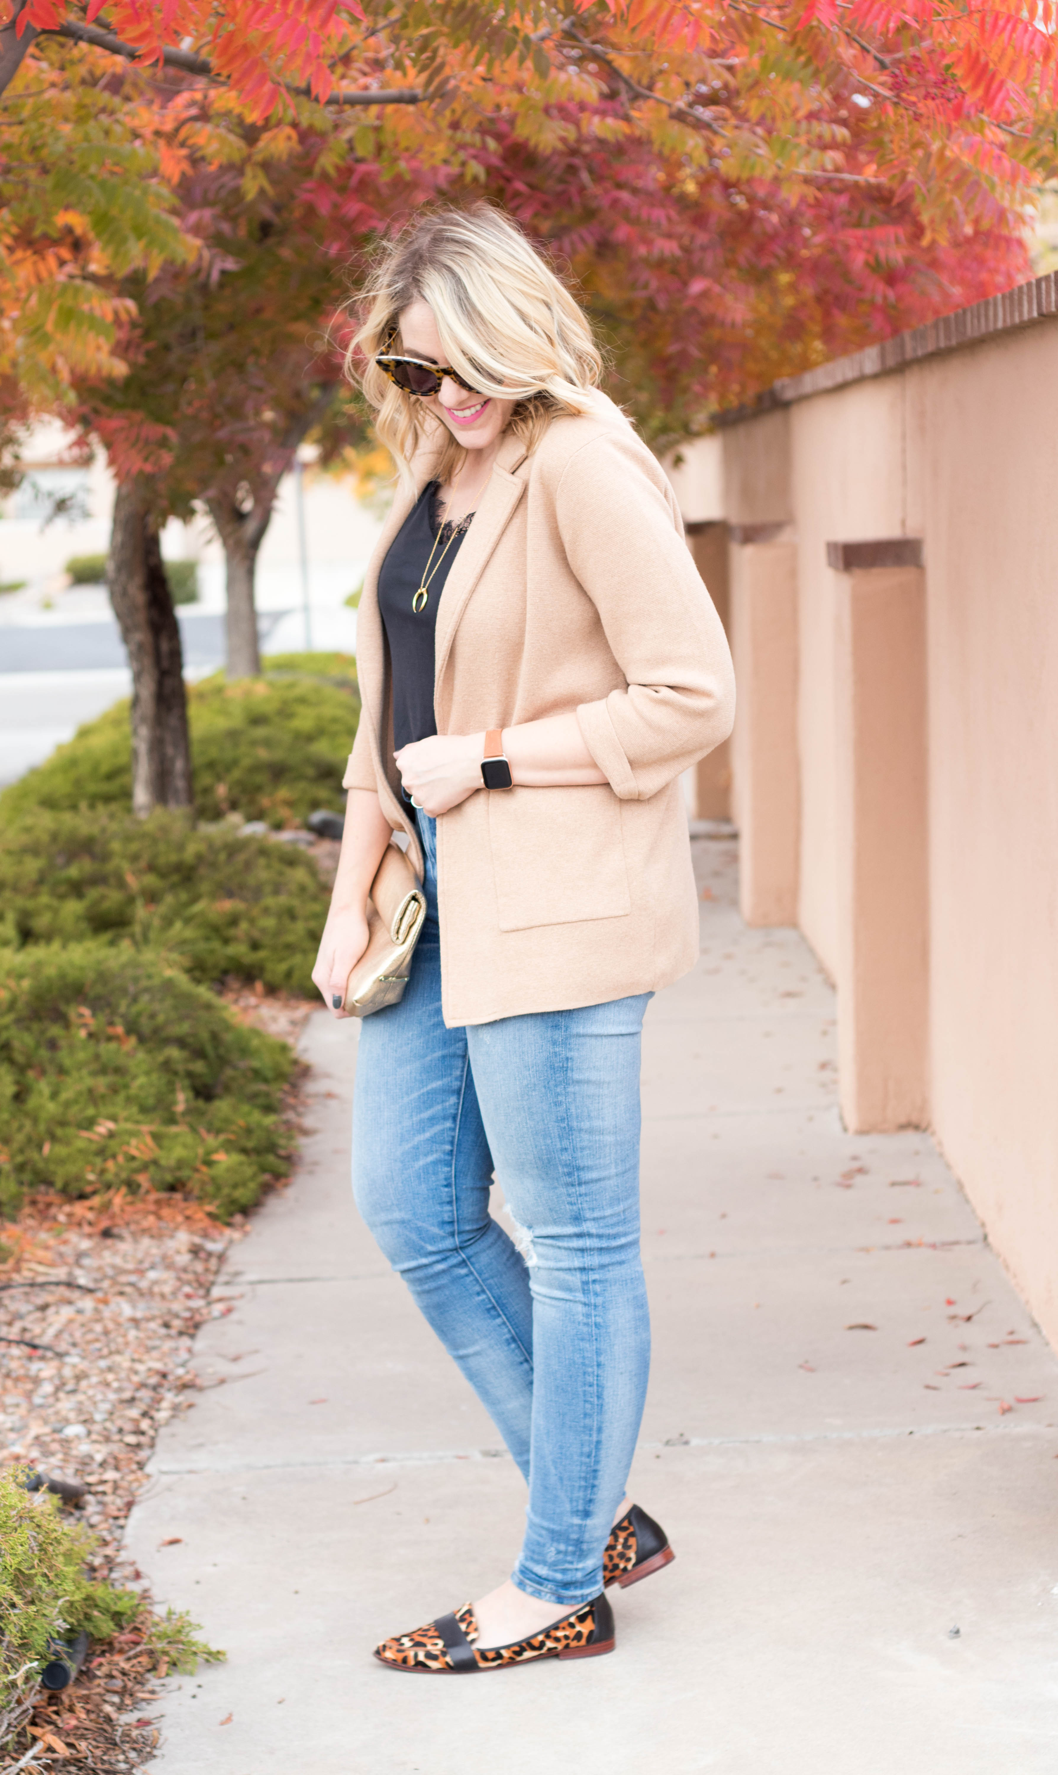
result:
<svg viewBox="0 0 1058 1775"><path fill-rule="evenodd" d="M724 479L731 522L792 520L799 921L840 992L827 543L923 540L928 1118L1058 1342L1054 390L1058 320L1044 320L733 424Z"/></svg>

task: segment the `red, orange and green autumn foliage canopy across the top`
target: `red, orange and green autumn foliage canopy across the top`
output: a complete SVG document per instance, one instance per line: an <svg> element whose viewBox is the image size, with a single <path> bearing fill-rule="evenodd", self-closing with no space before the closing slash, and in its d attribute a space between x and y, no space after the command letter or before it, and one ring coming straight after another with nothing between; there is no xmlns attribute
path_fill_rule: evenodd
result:
<svg viewBox="0 0 1058 1775"><path fill-rule="evenodd" d="M422 195L485 190L550 241L611 339L618 392L667 438L1017 280L1024 202L1056 160L1054 0L1031 16L1019 0L114 0L107 27L96 14L96 0L16 0L0 32L0 89L14 71L25 106L0 181L16 142L21 170L50 169L21 234L0 236L7 362L25 378L39 344L53 383L76 382L124 462L144 559L163 511L208 501L236 667L256 664L252 561L291 440L334 412L318 341L336 266ZM66 201L62 172L94 165L96 119L110 185L92 208L103 186L82 178ZM112 179L122 154L144 172L131 211ZM107 229L128 243L124 270ZM66 311L64 284L80 291ZM20 296L37 286L51 318L36 344ZM163 580L135 573L165 602ZM147 623L147 593L137 609ZM153 659L158 674L158 641Z"/></svg>

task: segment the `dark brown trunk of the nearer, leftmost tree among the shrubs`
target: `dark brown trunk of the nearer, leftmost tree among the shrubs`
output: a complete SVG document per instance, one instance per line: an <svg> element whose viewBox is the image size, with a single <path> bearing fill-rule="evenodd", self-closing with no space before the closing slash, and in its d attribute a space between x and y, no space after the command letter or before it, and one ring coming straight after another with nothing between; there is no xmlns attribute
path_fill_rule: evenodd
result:
<svg viewBox="0 0 1058 1775"><path fill-rule="evenodd" d="M147 485L121 481L114 501L110 604L133 674L133 813L192 806L183 648Z"/></svg>

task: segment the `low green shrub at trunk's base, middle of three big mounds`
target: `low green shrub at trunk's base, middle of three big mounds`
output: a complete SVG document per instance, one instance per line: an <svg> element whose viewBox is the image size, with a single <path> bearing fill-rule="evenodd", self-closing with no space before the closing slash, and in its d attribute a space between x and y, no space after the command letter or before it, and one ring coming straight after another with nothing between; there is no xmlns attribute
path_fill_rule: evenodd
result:
<svg viewBox="0 0 1058 1775"><path fill-rule="evenodd" d="M311 992L327 889L311 857L179 813L30 813L0 832L0 944L128 939L206 985Z"/></svg>

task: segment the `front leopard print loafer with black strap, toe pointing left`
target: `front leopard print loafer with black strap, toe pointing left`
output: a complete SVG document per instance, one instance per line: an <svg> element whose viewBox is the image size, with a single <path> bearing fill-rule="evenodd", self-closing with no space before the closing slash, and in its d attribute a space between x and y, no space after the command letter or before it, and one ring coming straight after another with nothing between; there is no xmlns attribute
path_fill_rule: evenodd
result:
<svg viewBox="0 0 1058 1775"><path fill-rule="evenodd" d="M543 1633L509 1645L478 1651L478 1622L470 1603L451 1615L440 1615L426 1628L399 1633L375 1647L375 1658L391 1670L417 1670L421 1676L465 1676L472 1670L504 1670L533 1663L536 1658L598 1658L614 1649L614 1613L605 1596L582 1603Z"/></svg>

